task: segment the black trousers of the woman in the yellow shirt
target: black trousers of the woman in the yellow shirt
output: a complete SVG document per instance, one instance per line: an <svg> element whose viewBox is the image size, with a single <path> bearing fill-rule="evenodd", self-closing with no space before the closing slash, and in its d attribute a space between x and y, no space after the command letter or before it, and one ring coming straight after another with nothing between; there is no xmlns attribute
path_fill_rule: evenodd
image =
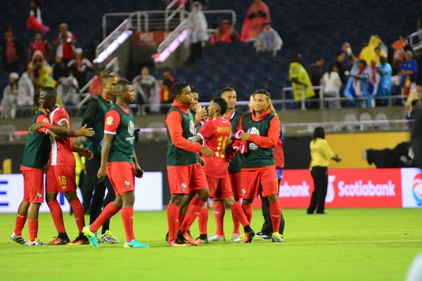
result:
<svg viewBox="0 0 422 281"><path fill-rule="evenodd" d="M311 176L314 179L314 192L312 192L311 203L307 209L308 214L324 213L325 197L328 188L328 169L323 166L314 166L311 170Z"/></svg>

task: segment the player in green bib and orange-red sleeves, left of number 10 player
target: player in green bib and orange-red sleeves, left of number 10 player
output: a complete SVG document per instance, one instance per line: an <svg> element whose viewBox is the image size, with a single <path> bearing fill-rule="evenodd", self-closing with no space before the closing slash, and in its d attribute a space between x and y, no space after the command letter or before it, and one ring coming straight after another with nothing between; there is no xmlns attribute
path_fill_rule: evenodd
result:
<svg viewBox="0 0 422 281"><path fill-rule="evenodd" d="M203 155L211 157L212 150L196 143L194 119L188 110L189 105L193 103L191 87L186 82L174 84L172 98L174 101L165 119L167 125L167 175L171 193L170 203L167 207L169 227L167 244L170 247L185 246L179 243L180 240L196 246L198 243L188 234L188 230L210 195L197 153L201 152ZM195 190L196 196L188 205L184 221L179 226L180 205L184 195L189 195L191 190Z"/></svg>

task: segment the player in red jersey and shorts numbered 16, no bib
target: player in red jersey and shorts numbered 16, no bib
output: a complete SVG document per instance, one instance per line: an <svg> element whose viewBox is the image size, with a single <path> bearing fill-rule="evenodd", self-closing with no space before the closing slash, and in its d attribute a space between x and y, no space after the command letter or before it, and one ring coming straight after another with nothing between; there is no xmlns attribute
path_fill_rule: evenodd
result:
<svg viewBox="0 0 422 281"><path fill-rule="evenodd" d="M49 112L51 122L44 122L42 126L58 135L58 138L51 138L50 162L46 172L46 202L58 231L58 237L50 244L88 244L87 237L82 233L85 226L84 208L76 195L76 164L72 153L73 145L70 137L73 133L68 112L57 105L57 91L53 87L46 87L41 91L39 103ZM37 124L32 125L31 129L38 129ZM94 131L91 131L90 136L93 134ZM65 230L63 213L57 202L58 192L63 192L75 214L79 235L73 242L70 242Z"/></svg>

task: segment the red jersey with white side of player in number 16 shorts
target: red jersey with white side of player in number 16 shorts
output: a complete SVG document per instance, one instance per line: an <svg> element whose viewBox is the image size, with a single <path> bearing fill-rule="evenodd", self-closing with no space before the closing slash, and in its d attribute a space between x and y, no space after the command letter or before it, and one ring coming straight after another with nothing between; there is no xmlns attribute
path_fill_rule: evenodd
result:
<svg viewBox="0 0 422 281"><path fill-rule="evenodd" d="M50 122L58 125L61 121L68 122L69 129L72 130L68 112L64 107L57 107L50 113ZM75 156L73 156L72 138L51 138L51 166L76 166Z"/></svg>

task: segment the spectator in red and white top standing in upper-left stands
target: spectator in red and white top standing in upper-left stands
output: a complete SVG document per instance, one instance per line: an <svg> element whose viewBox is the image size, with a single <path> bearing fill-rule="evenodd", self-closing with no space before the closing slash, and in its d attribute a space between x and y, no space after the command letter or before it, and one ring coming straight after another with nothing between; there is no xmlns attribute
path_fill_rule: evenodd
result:
<svg viewBox="0 0 422 281"><path fill-rule="evenodd" d="M73 58L76 38L68 31L68 24L61 23L58 26L60 33L54 38L53 45L56 46L56 56L62 58L63 63L68 64Z"/></svg>

